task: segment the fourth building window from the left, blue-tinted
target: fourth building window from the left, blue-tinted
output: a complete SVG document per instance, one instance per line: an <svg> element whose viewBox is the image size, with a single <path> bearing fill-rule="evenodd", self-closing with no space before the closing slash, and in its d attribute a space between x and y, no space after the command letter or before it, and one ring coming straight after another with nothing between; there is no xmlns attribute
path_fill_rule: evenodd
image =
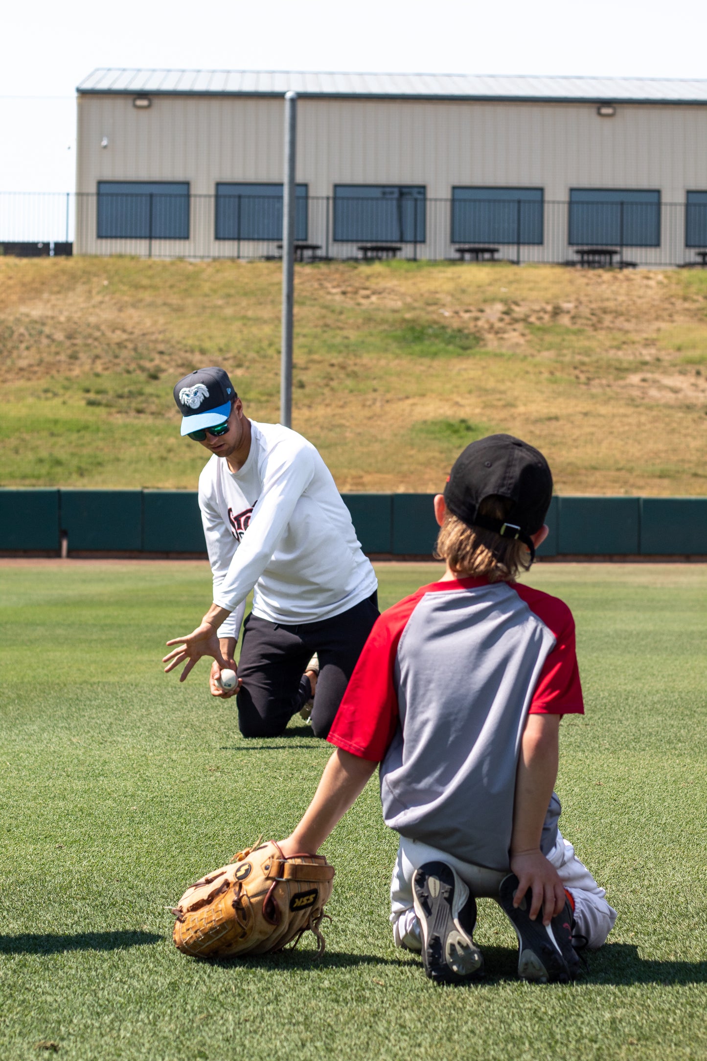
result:
<svg viewBox="0 0 707 1061"><path fill-rule="evenodd" d="M453 188L453 243L542 243L542 188Z"/></svg>

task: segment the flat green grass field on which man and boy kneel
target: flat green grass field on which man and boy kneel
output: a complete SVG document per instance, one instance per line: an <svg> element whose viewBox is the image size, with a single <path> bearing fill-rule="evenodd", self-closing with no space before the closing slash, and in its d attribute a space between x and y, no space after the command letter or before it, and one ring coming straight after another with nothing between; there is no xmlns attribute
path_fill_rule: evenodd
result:
<svg viewBox="0 0 707 1061"><path fill-rule="evenodd" d="M438 570L382 566L383 604ZM325 846L323 960L311 944L178 954L166 907L259 833L288 833L329 748L295 724L245 742L206 664L184 685L162 674L164 641L210 601L205 563L0 567L0 1056L707 1057L707 569L546 564L530 580L577 618L587 714L562 727L563 831L619 920L583 980L531 987L483 900L487 980L444 989L392 945L395 837L374 781Z"/></svg>

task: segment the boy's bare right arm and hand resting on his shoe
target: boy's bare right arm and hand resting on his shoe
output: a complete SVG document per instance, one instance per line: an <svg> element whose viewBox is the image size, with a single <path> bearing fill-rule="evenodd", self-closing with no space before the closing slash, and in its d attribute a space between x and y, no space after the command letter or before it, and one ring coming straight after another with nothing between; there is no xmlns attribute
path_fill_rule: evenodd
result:
<svg viewBox="0 0 707 1061"><path fill-rule="evenodd" d="M546 925L560 914L566 901L558 871L540 847L558 777L560 718L555 714L528 715L515 779L511 835L511 869L519 881L513 905L519 906L530 888L530 917L534 920L542 906Z"/></svg>

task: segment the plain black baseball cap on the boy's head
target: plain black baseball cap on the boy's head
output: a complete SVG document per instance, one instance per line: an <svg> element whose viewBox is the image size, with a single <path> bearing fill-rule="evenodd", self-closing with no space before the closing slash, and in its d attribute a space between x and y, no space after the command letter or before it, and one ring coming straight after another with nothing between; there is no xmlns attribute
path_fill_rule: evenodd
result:
<svg viewBox="0 0 707 1061"><path fill-rule="evenodd" d="M506 520L479 515L491 495L512 502ZM472 442L454 463L444 488L448 510L467 526L518 538L534 557L530 536L545 522L552 500L552 473L534 447L513 435L489 435Z"/></svg>

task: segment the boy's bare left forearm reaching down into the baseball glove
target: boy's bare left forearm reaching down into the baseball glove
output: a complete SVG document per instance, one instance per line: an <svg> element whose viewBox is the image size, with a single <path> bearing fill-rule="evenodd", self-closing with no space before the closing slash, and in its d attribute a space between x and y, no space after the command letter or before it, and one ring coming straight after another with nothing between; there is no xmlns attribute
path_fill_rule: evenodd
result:
<svg viewBox="0 0 707 1061"><path fill-rule="evenodd" d="M299 825L280 841L284 855L316 854L360 794L378 764L337 748Z"/></svg>

